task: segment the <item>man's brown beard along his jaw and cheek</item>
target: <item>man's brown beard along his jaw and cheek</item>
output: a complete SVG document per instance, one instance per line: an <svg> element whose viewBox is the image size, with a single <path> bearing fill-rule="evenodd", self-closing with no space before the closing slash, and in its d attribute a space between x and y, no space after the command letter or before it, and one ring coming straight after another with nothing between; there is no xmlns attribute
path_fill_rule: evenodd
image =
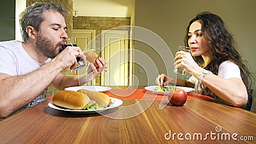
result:
<svg viewBox="0 0 256 144"><path fill-rule="evenodd" d="M60 54L62 51L62 49L60 49L60 45L62 44L62 42L54 44L54 42L43 36L40 32L36 38L36 49L42 52L42 54L47 58L55 58L58 54Z"/></svg>

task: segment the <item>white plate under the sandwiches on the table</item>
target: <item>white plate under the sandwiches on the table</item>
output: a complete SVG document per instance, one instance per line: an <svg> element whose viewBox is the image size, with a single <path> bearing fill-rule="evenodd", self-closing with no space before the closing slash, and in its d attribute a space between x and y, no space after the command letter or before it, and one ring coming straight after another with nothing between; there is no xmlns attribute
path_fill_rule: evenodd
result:
<svg viewBox="0 0 256 144"><path fill-rule="evenodd" d="M106 111L108 109L112 109L112 108L116 108L118 106L120 106L121 104L123 104L123 101L120 100L120 99L116 99L116 98L113 98L111 97L111 100L114 102L114 104L111 104L109 107L107 108L104 108L104 109L95 109L95 110L73 110L73 109L65 109L65 108L61 108L59 106L55 106L52 101L49 102L48 106L53 108L53 109L58 109L60 111L67 111L67 112L70 112L70 113L99 113L101 111Z"/></svg>

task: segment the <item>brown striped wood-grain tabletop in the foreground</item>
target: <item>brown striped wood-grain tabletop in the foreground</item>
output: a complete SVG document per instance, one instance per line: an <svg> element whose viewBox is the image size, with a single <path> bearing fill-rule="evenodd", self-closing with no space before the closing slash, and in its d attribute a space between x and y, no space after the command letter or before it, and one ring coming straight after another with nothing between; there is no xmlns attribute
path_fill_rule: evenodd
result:
<svg viewBox="0 0 256 144"><path fill-rule="evenodd" d="M49 108L51 100L46 100L0 122L0 143L253 143L256 139L256 115L241 108L188 100L184 106L168 104L160 110L160 100L151 105L151 100L123 101L120 108L109 109L103 116L59 111ZM231 138L234 133L237 140ZM186 140L189 134L191 140ZM202 137L193 140L195 134ZM221 134L230 134L230 140L221 140ZM254 140L241 141L241 136Z"/></svg>

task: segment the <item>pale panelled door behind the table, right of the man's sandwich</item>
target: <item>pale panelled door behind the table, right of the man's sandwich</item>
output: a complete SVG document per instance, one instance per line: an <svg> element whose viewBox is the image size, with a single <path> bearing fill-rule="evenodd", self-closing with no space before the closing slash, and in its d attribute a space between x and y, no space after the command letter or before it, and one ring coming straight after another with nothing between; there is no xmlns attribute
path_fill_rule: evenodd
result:
<svg viewBox="0 0 256 144"><path fill-rule="evenodd" d="M101 56L108 61L101 74L101 85L127 86L128 83L128 31L108 30L101 33Z"/></svg>

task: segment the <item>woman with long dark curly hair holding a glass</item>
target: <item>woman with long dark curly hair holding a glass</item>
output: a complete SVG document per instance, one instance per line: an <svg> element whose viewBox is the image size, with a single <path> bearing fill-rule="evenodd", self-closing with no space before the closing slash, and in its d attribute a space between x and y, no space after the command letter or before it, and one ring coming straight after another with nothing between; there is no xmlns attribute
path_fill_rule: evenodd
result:
<svg viewBox="0 0 256 144"><path fill-rule="evenodd" d="M156 83L193 86L200 94L249 110L252 97L248 97L248 93L255 76L241 59L223 20L210 12L199 13L189 22L184 43L190 53L177 52L174 65L184 68L192 76L188 81L177 79L176 82L176 79L161 74Z"/></svg>

